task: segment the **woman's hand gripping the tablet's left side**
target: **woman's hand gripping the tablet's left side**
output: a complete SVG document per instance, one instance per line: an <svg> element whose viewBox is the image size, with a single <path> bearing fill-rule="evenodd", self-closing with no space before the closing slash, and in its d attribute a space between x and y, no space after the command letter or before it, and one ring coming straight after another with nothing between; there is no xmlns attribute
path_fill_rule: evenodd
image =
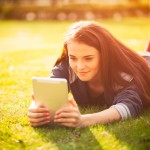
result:
<svg viewBox="0 0 150 150"><path fill-rule="evenodd" d="M44 105L36 105L34 96L32 95L33 101L28 108L28 118L31 126L41 126L50 122L50 112Z"/></svg>

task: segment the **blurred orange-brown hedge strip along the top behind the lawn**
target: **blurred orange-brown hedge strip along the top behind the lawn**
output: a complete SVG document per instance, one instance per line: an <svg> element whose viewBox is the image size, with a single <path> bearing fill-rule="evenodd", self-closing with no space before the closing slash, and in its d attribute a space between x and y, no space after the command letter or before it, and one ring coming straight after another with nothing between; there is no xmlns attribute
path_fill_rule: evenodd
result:
<svg viewBox="0 0 150 150"><path fill-rule="evenodd" d="M149 17L149 9L148 0L1 0L0 19L80 20L89 17Z"/></svg>

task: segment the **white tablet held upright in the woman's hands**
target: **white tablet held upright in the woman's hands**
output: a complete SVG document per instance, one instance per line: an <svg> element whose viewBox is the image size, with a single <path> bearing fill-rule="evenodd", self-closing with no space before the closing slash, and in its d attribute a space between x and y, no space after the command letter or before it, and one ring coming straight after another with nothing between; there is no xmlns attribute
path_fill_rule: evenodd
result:
<svg viewBox="0 0 150 150"><path fill-rule="evenodd" d="M44 104L51 116L68 102L67 80L63 78L32 77L36 104Z"/></svg>

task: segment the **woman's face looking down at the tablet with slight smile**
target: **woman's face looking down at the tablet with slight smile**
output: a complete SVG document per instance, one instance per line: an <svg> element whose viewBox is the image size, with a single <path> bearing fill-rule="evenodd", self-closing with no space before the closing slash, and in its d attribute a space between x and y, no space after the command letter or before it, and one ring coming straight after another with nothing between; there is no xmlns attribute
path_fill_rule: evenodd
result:
<svg viewBox="0 0 150 150"><path fill-rule="evenodd" d="M69 64L82 81L92 81L100 75L99 51L84 43L71 41L67 45Z"/></svg>

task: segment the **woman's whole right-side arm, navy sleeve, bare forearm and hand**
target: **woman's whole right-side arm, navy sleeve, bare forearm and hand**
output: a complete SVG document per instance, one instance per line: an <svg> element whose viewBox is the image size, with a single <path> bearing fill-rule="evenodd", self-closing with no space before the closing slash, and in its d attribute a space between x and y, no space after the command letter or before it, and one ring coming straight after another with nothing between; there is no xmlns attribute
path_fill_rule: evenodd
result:
<svg viewBox="0 0 150 150"><path fill-rule="evenodd" d="M68 127L86 127L138 116L142 109L142 101L136 88L129 86L115 96L112 106L108 109L81 115L77 107L66 107L56 112L54 122Z"/></svg>

